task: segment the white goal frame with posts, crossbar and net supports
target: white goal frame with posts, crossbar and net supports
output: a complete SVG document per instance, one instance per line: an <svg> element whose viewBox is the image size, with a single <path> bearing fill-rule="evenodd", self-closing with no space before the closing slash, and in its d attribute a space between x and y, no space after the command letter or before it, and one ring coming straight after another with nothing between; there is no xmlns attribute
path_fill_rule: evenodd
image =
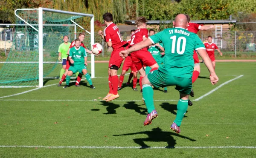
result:
<svg viewBox="0 0 256 158"><path fill-rule="evenodd" d="M38 29L33 27L31 24L26 22L23 18L18 16L16 14L16 11L19 10L38 10ZM90 34L90 47L94 44L94 15L93 14L84 14L84 13L77 13L77 12L71 12L71 11L61 11L61 10L55 10L55 9L48 9L48 8L38 8L38 9L16 9L15 10L15 16L18 17L20 20L22 20L24 23L38 31L38 53L39 53L39 87L44 86L44 71L43 71L43 11L48 12L55 12L55 13L61 13L61 14L70 14L73 16L83 16L83 17L90 17L90 32L82 28L79 24L75 23L73 20L72 23L74 23L76 26L80 27L81 29L85 30L87 33ZM76 37L76 29L75 29L75 37ZM94 63L94 55L91 55L91 78L95 78L95 63Z"/></svg>

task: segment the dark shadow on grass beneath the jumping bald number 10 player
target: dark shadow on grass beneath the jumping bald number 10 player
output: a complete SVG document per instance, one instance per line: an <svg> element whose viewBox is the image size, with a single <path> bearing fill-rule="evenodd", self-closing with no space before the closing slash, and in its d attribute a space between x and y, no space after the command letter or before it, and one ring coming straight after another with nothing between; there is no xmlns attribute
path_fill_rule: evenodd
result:
<svg viewBox="0 0 256 158"><path fill-rule="evenodd" d="M147 144L145 144L146 141L148 142L166 142L168 145L165 148L175 148L176 140L173 138L173 136L180 137L183 139L188 139L189 141L196 141L195 139L178 135L174 132L166 132L162 131L159 127L153 128L152 131L143 131L143 132L135 132L135 133L127 133L122 135L113 135L113 136L123 136L123 135L138 135L138 134L146 134L148 135L148 138L135 138L134 142L140 145L140 149L146 149L150 148Z"/></svg>

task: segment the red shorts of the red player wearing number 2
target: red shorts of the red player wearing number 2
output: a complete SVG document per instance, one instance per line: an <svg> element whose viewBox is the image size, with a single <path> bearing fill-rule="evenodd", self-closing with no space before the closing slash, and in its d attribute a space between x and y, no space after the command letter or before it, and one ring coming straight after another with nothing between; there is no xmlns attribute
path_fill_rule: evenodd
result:
<svg viewBox="0 0 256 158"><path fill-rule="evenodd" d="M152 66L155 63L157 63L150 52L142 50L132 52L131 60L134 63L137 70L140 70L143 66Z"/></svg>

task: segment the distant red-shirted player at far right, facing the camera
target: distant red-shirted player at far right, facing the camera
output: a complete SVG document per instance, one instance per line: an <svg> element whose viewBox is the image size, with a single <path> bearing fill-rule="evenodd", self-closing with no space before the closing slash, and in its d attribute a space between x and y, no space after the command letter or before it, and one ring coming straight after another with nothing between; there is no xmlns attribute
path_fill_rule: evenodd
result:
<svg viewBox="0 0 256 158"><path fill-rule="evenodd" d="M207 54L209 55L210 59L212 60L213 68L215 69L215 56L214 50L217 50L220 55L222 56L222 52L218 49L215 43L212 43L212 36L208 36L208 42L204 43L205 49ZM209 76L211 78L211 76Z"/></svg>

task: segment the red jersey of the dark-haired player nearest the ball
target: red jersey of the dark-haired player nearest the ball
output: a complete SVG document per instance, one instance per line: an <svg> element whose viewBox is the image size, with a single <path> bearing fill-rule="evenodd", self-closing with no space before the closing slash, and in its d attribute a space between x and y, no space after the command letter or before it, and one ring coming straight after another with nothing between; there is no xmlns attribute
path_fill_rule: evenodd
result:
<svg viewBox="0 0 256 158"><path fill-rule="evenodd" d="M122 40L119 29L114 23L111 23L104 29L104 36L106 42L112 42L113 51L127 44L126 41Z"/></svg>

